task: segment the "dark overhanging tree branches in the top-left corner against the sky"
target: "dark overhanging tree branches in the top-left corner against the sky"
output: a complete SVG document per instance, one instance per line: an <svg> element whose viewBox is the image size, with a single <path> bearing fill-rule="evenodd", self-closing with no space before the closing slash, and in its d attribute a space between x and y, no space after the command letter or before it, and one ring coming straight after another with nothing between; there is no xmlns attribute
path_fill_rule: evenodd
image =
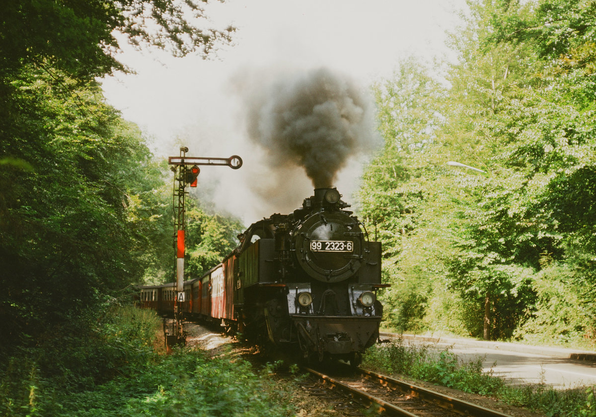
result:
<svg viewBox="0 0 596 417"><path fill-rule="evenodd" d="M216 42L229 41L234 28L201 25L203 1L5 2L0 31L1 68L10 73L25 63L59 69L76 80L123 69L116 60L117 33L133 45L150 44L183 56L209 54Z"/></svg>

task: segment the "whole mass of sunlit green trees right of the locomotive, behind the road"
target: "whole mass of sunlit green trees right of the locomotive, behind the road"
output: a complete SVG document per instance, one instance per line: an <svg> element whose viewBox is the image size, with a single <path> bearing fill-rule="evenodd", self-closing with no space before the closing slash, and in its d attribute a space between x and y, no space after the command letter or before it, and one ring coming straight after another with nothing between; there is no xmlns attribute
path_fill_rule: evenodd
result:
<svg viewBox="0 0 596 417"><path fill-rule="evenodd" d="M393 143L392 132L403 130L406 120L418 132L414 142L424 144L415 148L417 158L411 147L386 146L365 176L364 201L401 196L386 206L393 216L376 215L383 217L379 234L390 248L392 275L401 277L398 283L418 279L423 288L432 288L432 293L425 290L427 297L414 297L423 306L434 305L441 285L457 294L472 313L460 315L471 334L480 335L483 322L485 337L491 338L544 330L538 322L544 323L547 309L567 314L570 300L577 300L576 312L583 313L564 320L576 320L582 330L549 329L594 337L596 322L589 319L596 312L594 13L591 0L470 2L464 26L451 38L459 61L446 71L449 87L434 96L439 98L436 110L423 112L426 123L436 126L430 138L417 128L424 117L408 119L411 107L392 107L392 101L405 101L405 79L396 76L402 88L390 93L400 97L377 96L386 141ZM408 99L427 102L420 91ZM395 111L401 116L389 119ZM394 161L399 161L399 178L370 181L378 166ZM448 161L486 173L447 168ZM407 200L400 190L411 191L413 178L421 198L408 213L401 210ZM417 220L408 223L406 234L390 226L412 218ZM419 262L418 270L426 269L424 276L412 259ZM557 301L561 291L546 288L549 281L567 285L573 296ZM393 293L408 300L412 291L420 291L410 284L401 288L411 291L388 293L398 307L402 301ZM402 322L408 315L433 314L410 310L398 308ZM428 318L424 322L433 326ZM434 328L448 320L438 322Z"/></svg>

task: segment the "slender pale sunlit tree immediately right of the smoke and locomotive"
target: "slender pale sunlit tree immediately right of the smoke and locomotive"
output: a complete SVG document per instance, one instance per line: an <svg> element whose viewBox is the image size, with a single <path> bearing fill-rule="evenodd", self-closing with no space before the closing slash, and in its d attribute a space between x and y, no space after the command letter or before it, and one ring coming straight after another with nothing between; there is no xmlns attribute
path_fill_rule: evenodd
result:
<svg viewBox="0 0 596 417"><path fill-rule="evenodd" d="M432 273L421 266L432 257L432 245L418 230L432 192L426 185L436 172L431 150L442 123L444 88L427 67L409 58L373 92L384 148L363 175L359 216L383 242L384 280L394 284L384 295L389 322L398 329L416 328L432 287ZM412 245L417 239L424 249Z"/></svg>

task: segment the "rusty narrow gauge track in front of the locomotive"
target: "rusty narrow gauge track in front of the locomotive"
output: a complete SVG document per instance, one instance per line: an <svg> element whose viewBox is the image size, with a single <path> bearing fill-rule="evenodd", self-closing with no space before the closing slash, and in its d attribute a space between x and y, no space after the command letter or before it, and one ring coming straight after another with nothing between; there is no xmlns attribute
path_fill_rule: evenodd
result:
<svg viewBox="0 0 596 417"><path fill-rule="evenodd" d="M445 396L427 388L375 374L365 369L355 369L355 375L342 376L341 380L321 374L314 369L306 368L305 371L322 379L330 389L339 388L356 399L375 405L380 413L387 415L511 417L496 410Z"/></svg>

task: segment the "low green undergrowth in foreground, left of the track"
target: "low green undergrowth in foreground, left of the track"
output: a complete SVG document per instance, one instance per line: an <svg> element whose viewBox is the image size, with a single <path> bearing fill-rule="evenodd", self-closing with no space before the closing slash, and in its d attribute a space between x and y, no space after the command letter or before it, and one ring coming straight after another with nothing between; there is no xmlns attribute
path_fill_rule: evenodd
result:
<svg viewBox="0 0 596 417"><path fill-rule="evenodd" d="M188 348L163 354L159 328L151 313L117 308L95 329L21 349L1 363L0 415L293 415L266 369Z"/></svg>

